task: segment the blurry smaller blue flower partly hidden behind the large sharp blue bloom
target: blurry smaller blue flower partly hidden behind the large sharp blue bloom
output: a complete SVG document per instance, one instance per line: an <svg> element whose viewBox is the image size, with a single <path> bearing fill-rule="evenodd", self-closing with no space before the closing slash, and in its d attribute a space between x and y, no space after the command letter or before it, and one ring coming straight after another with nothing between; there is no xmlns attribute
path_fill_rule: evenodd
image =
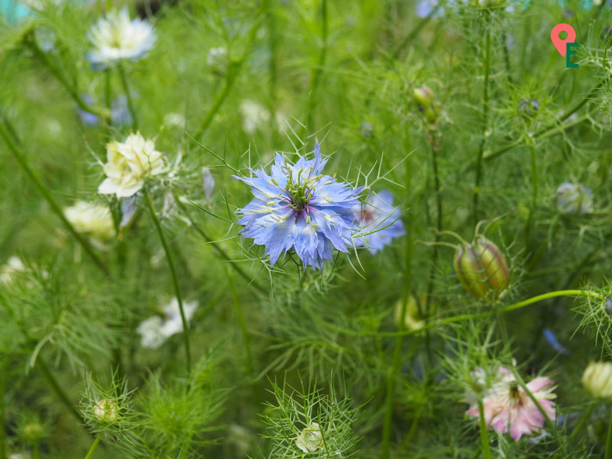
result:
<svg viewBox="0 0 612 459"><path fill-rule="evenodd" d="M367 247L370 253L376 253L391 242L394 237L406 234L406 228L400 220L400 209L393 207L393 195L383 190L378 195L371 195L364 204L353 207L356 230L359 233L370 233L355 238L357 247Z"/></svg>

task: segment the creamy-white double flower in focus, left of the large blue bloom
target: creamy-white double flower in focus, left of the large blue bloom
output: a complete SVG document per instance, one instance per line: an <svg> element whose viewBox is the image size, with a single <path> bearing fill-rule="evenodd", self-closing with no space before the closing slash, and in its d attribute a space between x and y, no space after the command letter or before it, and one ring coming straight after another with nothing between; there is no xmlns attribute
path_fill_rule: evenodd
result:
<svg viewBox="0 0 612 459"><path fill-rule="evenodd" d="M103 195L126 198L140 191L149 176L164 171L162 154L155 151L152 140L145 140L137 132L130 134L124 143L111 141L106 144L106 179L98 187Z"/></svg>

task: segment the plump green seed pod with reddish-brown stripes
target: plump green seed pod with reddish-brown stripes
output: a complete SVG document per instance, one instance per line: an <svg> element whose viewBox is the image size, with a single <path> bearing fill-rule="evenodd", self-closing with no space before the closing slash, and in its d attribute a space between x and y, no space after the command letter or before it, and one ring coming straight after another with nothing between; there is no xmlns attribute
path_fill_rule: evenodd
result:
<svg viewBox="0 0 612 459"><path fill-rule="evenodd" d="M476 299L499 299L507 293L510 272L497 245L479 235L457 247L453 263L461 285Z"/></svg>

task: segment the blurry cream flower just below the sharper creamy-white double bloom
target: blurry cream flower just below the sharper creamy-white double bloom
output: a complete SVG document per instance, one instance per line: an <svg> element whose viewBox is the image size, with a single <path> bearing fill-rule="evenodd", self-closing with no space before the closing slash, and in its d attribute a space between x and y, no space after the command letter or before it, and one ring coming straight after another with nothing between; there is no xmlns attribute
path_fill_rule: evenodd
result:
<svg viewBox="0 0 612 459"><path fill-rule="evenodd" d="M77 233L88 233L99 241L115 236L113 216L108 207L76 201L64 209L64 215Z"/></svg>

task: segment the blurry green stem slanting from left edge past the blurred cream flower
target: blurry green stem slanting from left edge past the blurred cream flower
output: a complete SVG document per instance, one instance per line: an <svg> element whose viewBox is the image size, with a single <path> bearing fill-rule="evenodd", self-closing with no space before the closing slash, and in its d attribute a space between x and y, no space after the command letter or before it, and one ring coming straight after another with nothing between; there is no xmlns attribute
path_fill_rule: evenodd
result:
<svg viewBox="0 0 612 459"><path fill-rule="evenodd" d="M55 200L53 199L53 196L51 196L51 193L49 192L49 190L47 190L47 187L45 187L43 182L40 180L39 176L37 176L34 173L34 170L32 170L32 168L29 166L26 156L23 154L23 152L21 152L21 150L17 146L17 143L15 143L13 138L10 136L9 132L11 131L14 131L14 130L10 126L9 120L7 120L0 113L0 136L6 142L7 146L9 147L9 150L13 154L13 157L15 157L15 160L17 160L17 162L19 163L21 168L24 170L26 175L28 175L32 183L34 183L35 187L38 188L39 192L43 195L43 198L47 200L47 203L51 207L51 210L53 210L53 212L55 212L55 214L58 215L62 223L64 223L65 228L70 232L70 234L72 234L72 236L76 239L76 241L78 241L78 243L81 244L85 252L89 255L89 258L91 258L92 261L95 263L95 266L99 267L100 270L106 276L110 277L110 272L108 271L108 269L106 269L106 266L104 263L102 263L102 260L100 260L100 258L98 258L98 256L95 255L94 249L91 247L87 239L85 239L83 235L81 235L80 233L76 232L75 228L65 217L64 211L62 211L62 208L59 207L58 203L55 202Z"/></svg>

